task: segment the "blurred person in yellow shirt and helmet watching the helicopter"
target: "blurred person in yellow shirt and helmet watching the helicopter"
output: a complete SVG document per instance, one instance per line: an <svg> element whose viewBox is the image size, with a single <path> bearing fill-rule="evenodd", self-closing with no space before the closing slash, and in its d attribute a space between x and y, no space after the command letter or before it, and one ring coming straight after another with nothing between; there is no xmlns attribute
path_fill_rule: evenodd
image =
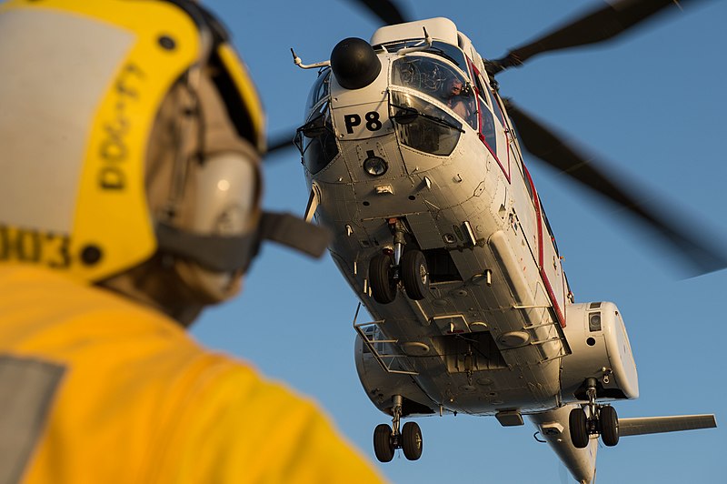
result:
<svg viewBox="0 0 727 484"><path fill-rule="evenodd" d="M264 118L193 2L0 5L0 482L375 482L314 405L197 345L260 242Z"/></svg>

